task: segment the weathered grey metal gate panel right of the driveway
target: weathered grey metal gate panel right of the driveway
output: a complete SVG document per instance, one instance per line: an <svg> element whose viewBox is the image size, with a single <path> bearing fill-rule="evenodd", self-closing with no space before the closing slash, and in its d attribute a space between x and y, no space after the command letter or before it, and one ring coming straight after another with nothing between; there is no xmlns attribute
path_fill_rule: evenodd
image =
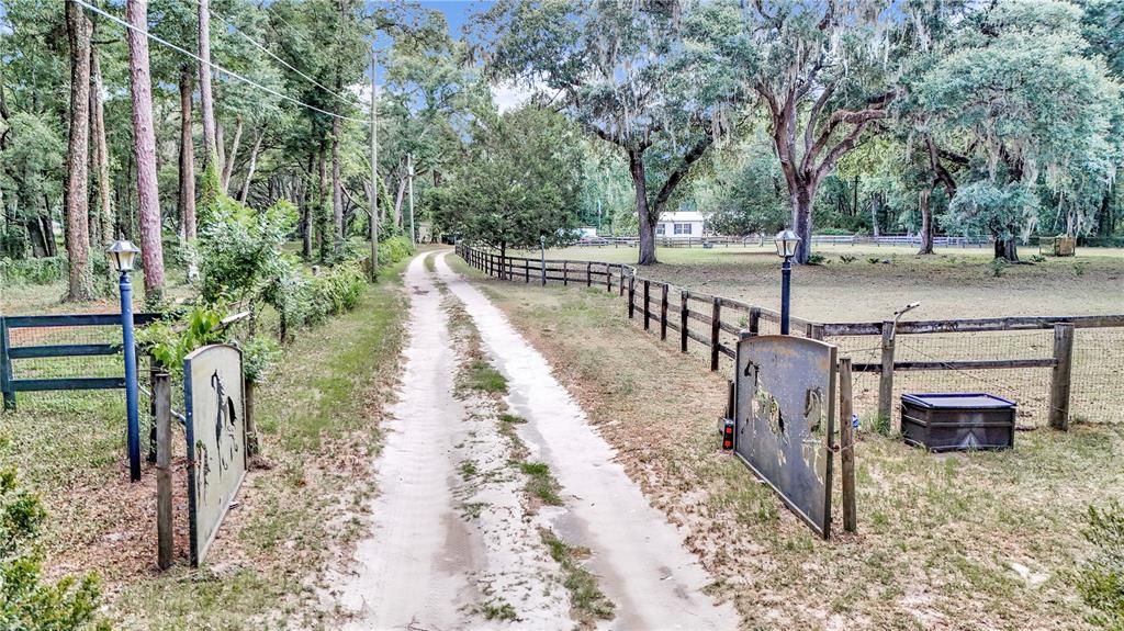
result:
<svg viewBox="0 0 1124 631"><path fill-rule="evenodd" d="M735 372L734 452L825 539L832 523L835 347L743 336Z"/></svg>

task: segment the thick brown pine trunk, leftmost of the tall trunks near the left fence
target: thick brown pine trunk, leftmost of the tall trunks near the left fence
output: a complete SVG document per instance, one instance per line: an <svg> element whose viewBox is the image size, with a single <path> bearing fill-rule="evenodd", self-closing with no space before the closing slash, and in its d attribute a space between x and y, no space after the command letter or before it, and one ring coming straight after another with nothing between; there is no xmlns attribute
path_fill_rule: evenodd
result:
<svg viewBox="0 0 1124 631"><path fill-rule="evenodd" d="M78 3L66 2L70 40L71 103L66 147L66 256L70 289L66 300L93 299L90 269L90 19Z"/></svg>

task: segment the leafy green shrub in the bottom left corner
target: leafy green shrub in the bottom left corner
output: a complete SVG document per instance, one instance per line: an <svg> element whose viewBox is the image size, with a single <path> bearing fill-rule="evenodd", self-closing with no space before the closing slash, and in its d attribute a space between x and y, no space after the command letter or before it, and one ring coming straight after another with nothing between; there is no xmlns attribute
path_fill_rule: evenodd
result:
<svg viewBox="0 0 1124 631"><path fill-rule="evenodd" d="M108 630L97 620L100 588L92 575L43 582L36 548L47 513L20 490L16 470L0 469L0 629L12 631Z"/></svg>

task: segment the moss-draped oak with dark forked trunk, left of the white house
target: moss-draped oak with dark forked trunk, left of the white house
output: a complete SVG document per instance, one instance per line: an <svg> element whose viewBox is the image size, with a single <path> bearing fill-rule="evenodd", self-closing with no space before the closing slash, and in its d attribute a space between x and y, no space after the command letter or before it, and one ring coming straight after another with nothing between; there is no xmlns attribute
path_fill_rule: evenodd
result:
<svg viewBox="0 0 1124 631"><path fill-rule="evenodd" d="M627 161L641 265L656 263L660 214L742 98L724 64L745 51L717 48L735 19L731 3L507 0L480 20L496 34L492 77L537 89Z"/></svg>

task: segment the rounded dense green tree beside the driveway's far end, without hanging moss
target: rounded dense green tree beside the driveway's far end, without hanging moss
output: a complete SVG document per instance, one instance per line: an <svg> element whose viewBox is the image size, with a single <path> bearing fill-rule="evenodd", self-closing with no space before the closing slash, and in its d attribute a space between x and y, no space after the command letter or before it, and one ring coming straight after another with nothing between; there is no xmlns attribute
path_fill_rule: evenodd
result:
<svg viewBox="0 0 1124 631"><path fill-rule="evenodd" d="M471 139L430 194L444 231L499 249L574 239L580 191L578 132L556 113L529 106L478 119Z"/></svg>

